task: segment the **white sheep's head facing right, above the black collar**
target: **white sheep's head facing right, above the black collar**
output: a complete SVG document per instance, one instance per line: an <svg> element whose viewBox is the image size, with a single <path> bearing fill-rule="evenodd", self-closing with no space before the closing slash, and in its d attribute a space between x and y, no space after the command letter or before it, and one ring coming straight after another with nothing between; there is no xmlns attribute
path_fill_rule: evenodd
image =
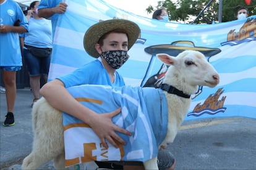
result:
<svg viewBox="0 0 256 170"><path fill-rule="evenodd" d="M205 55L198 51L184 51L177 57L168 54L157 54L158 59L167 65L172 65L169 69L175 69L176 76L191 86L215 87L220 82L220 76L215 68L205 59ZM168 72L166 81L168 81ZM170 80L171 81L171 80Z"/></svg>

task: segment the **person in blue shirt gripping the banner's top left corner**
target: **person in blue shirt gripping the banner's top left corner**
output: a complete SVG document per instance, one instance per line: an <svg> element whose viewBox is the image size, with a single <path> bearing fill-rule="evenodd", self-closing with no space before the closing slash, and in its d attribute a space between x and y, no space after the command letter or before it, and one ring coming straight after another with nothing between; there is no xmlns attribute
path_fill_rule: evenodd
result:
<svg viewBox="0 0 256 170"><path fill-rule="evenodd" d="M38 6L38 17L51 18L53 37L60 14L64 14L67 4L62 0L41 0Z"/></svg>

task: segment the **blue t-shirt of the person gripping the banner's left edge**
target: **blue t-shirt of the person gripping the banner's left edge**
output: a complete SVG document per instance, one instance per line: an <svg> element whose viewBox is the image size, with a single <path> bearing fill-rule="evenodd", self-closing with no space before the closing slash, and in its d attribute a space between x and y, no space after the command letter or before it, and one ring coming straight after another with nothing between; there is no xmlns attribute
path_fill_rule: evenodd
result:
<svg viewBox="0 0 256 170"><path fill-rule="evenodd" d="M62 0L51 0L51 1L41 0L40 4L38 6L38 9L56 7L56 6L59 5L60 2L62 2ZM55 30L56 30L59 15L61 15L61 14L54 14L53 16L51 16L51 25L53 27L53 37L54 37L54 34L55 34Z"/></svg>

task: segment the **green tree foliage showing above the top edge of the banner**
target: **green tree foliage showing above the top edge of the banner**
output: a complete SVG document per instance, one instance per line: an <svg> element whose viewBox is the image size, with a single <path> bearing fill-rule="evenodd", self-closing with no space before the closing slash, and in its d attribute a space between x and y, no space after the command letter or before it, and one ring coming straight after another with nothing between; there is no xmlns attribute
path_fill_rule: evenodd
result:
<svg viewBox="0 0 256 170"><path fill-rule="evenodd" d="M209 6L207 6L209 5ZM218 22L218 14L219 14L219 1L207 1L207 0L165 0L158 1L157 6L148 6L146 11L148 14L153 14L156 9L164 7L168 14L169 20L181 22L181 23L192 23L195 18L197 18L198 14L202 12L200 16L198 16L197 20L194 23L210 24L213 21ZM240 7L247 7L249 10L249 15L256 15L256 1L252 0L247 6L244 0L223 0L222 7L222 22L228 22L231 20L236 20L237 10Z"/></svg>

